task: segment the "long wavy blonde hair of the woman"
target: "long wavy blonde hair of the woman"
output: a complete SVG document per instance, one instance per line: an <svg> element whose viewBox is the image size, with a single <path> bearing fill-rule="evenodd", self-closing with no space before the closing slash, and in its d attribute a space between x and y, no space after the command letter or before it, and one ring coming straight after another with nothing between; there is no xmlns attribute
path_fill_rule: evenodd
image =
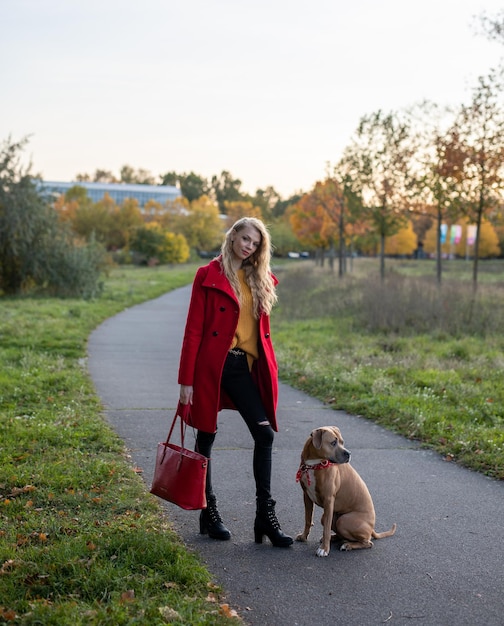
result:
<svg viewBox="0 0 504 626"><path fill-rule="evenodd" d="M253 226L261 235L259 247L242 265L245 270L245 280L252 293L254 316L256 319L259 319L261 312L269 315L277 301L275 283L271 275L270 266L271 239L266 226L261 220L256 217L242 217L231 226L222 242L221 265L224 275L231 283L238 300L240 300L240 281L232 266L233 239L236 233L239 233L240 230L247 226Z"/></svg>

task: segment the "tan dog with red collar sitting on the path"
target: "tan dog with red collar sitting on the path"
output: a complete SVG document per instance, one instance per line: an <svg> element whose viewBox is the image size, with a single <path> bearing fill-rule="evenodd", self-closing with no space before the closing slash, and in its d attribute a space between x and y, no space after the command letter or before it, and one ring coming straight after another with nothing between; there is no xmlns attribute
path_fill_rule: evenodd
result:
<svg viewBox="0 0 504 626"><path fill-rule="evenodd" d="M350 465L350 452L336 426L314 430L301 453L301 464L296 476L303 488L305 505L304 531L296 541L306 542L313 526L314 504L322 507L323 527L316 555L329 555L331 531L334 539L342 540L340 550L371 548L373 539L390 537L390 530L375 532L375 509L371 494L356 470Z"/></svg>

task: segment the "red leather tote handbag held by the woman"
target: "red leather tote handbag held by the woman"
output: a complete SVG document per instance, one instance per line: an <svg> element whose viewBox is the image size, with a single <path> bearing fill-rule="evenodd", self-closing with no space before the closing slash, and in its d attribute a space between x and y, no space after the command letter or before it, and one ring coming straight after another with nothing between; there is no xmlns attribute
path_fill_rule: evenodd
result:
<svg viewBox="0 0 504 626"><path fill-rule="evenodd" d="M166 441L158 443L150 493L182 509L205 509L208 459L199 452L184 448L186 423L180 413L186 413L189 405L180 409L179 404ZM180 446L170 443L177 417L180 417Z"/></svg>

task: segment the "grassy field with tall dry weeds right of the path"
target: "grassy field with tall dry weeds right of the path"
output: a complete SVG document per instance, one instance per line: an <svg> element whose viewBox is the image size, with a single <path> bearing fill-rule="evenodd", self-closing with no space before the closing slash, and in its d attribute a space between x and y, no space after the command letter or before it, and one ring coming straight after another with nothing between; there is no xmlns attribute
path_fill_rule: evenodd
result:
<svg viewBox="0 0 504 626"><path fill-rule="evenodd" d="M464 262L441 290L428 263L389 263L384 283L369 263L342 280L311 264L281 275L282 378L504 479L504 265L486 266L474 298Z"/></svg>

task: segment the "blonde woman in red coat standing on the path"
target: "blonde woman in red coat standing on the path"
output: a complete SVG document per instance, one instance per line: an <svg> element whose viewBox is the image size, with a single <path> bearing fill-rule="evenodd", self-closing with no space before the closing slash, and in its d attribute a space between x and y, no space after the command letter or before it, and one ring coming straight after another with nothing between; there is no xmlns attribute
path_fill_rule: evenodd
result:
<svg viewBox="0 0 504 626"><path fill-rule="evenodd" d="M221 254L197 271L180 357L180 402L192 405L185 419L197 429L196 449L208 459L218 411L239 411L254 439L255 541L262 543L266 535L274 546L286 547L292 537L280 529L270 489L273 437L278 431L277 364L269 321L277 280L270 270L270 253L264 224L245 217L226 233ZM200 533L229 539L231 533L217 510L210 460L206 497Z"/></svg>

